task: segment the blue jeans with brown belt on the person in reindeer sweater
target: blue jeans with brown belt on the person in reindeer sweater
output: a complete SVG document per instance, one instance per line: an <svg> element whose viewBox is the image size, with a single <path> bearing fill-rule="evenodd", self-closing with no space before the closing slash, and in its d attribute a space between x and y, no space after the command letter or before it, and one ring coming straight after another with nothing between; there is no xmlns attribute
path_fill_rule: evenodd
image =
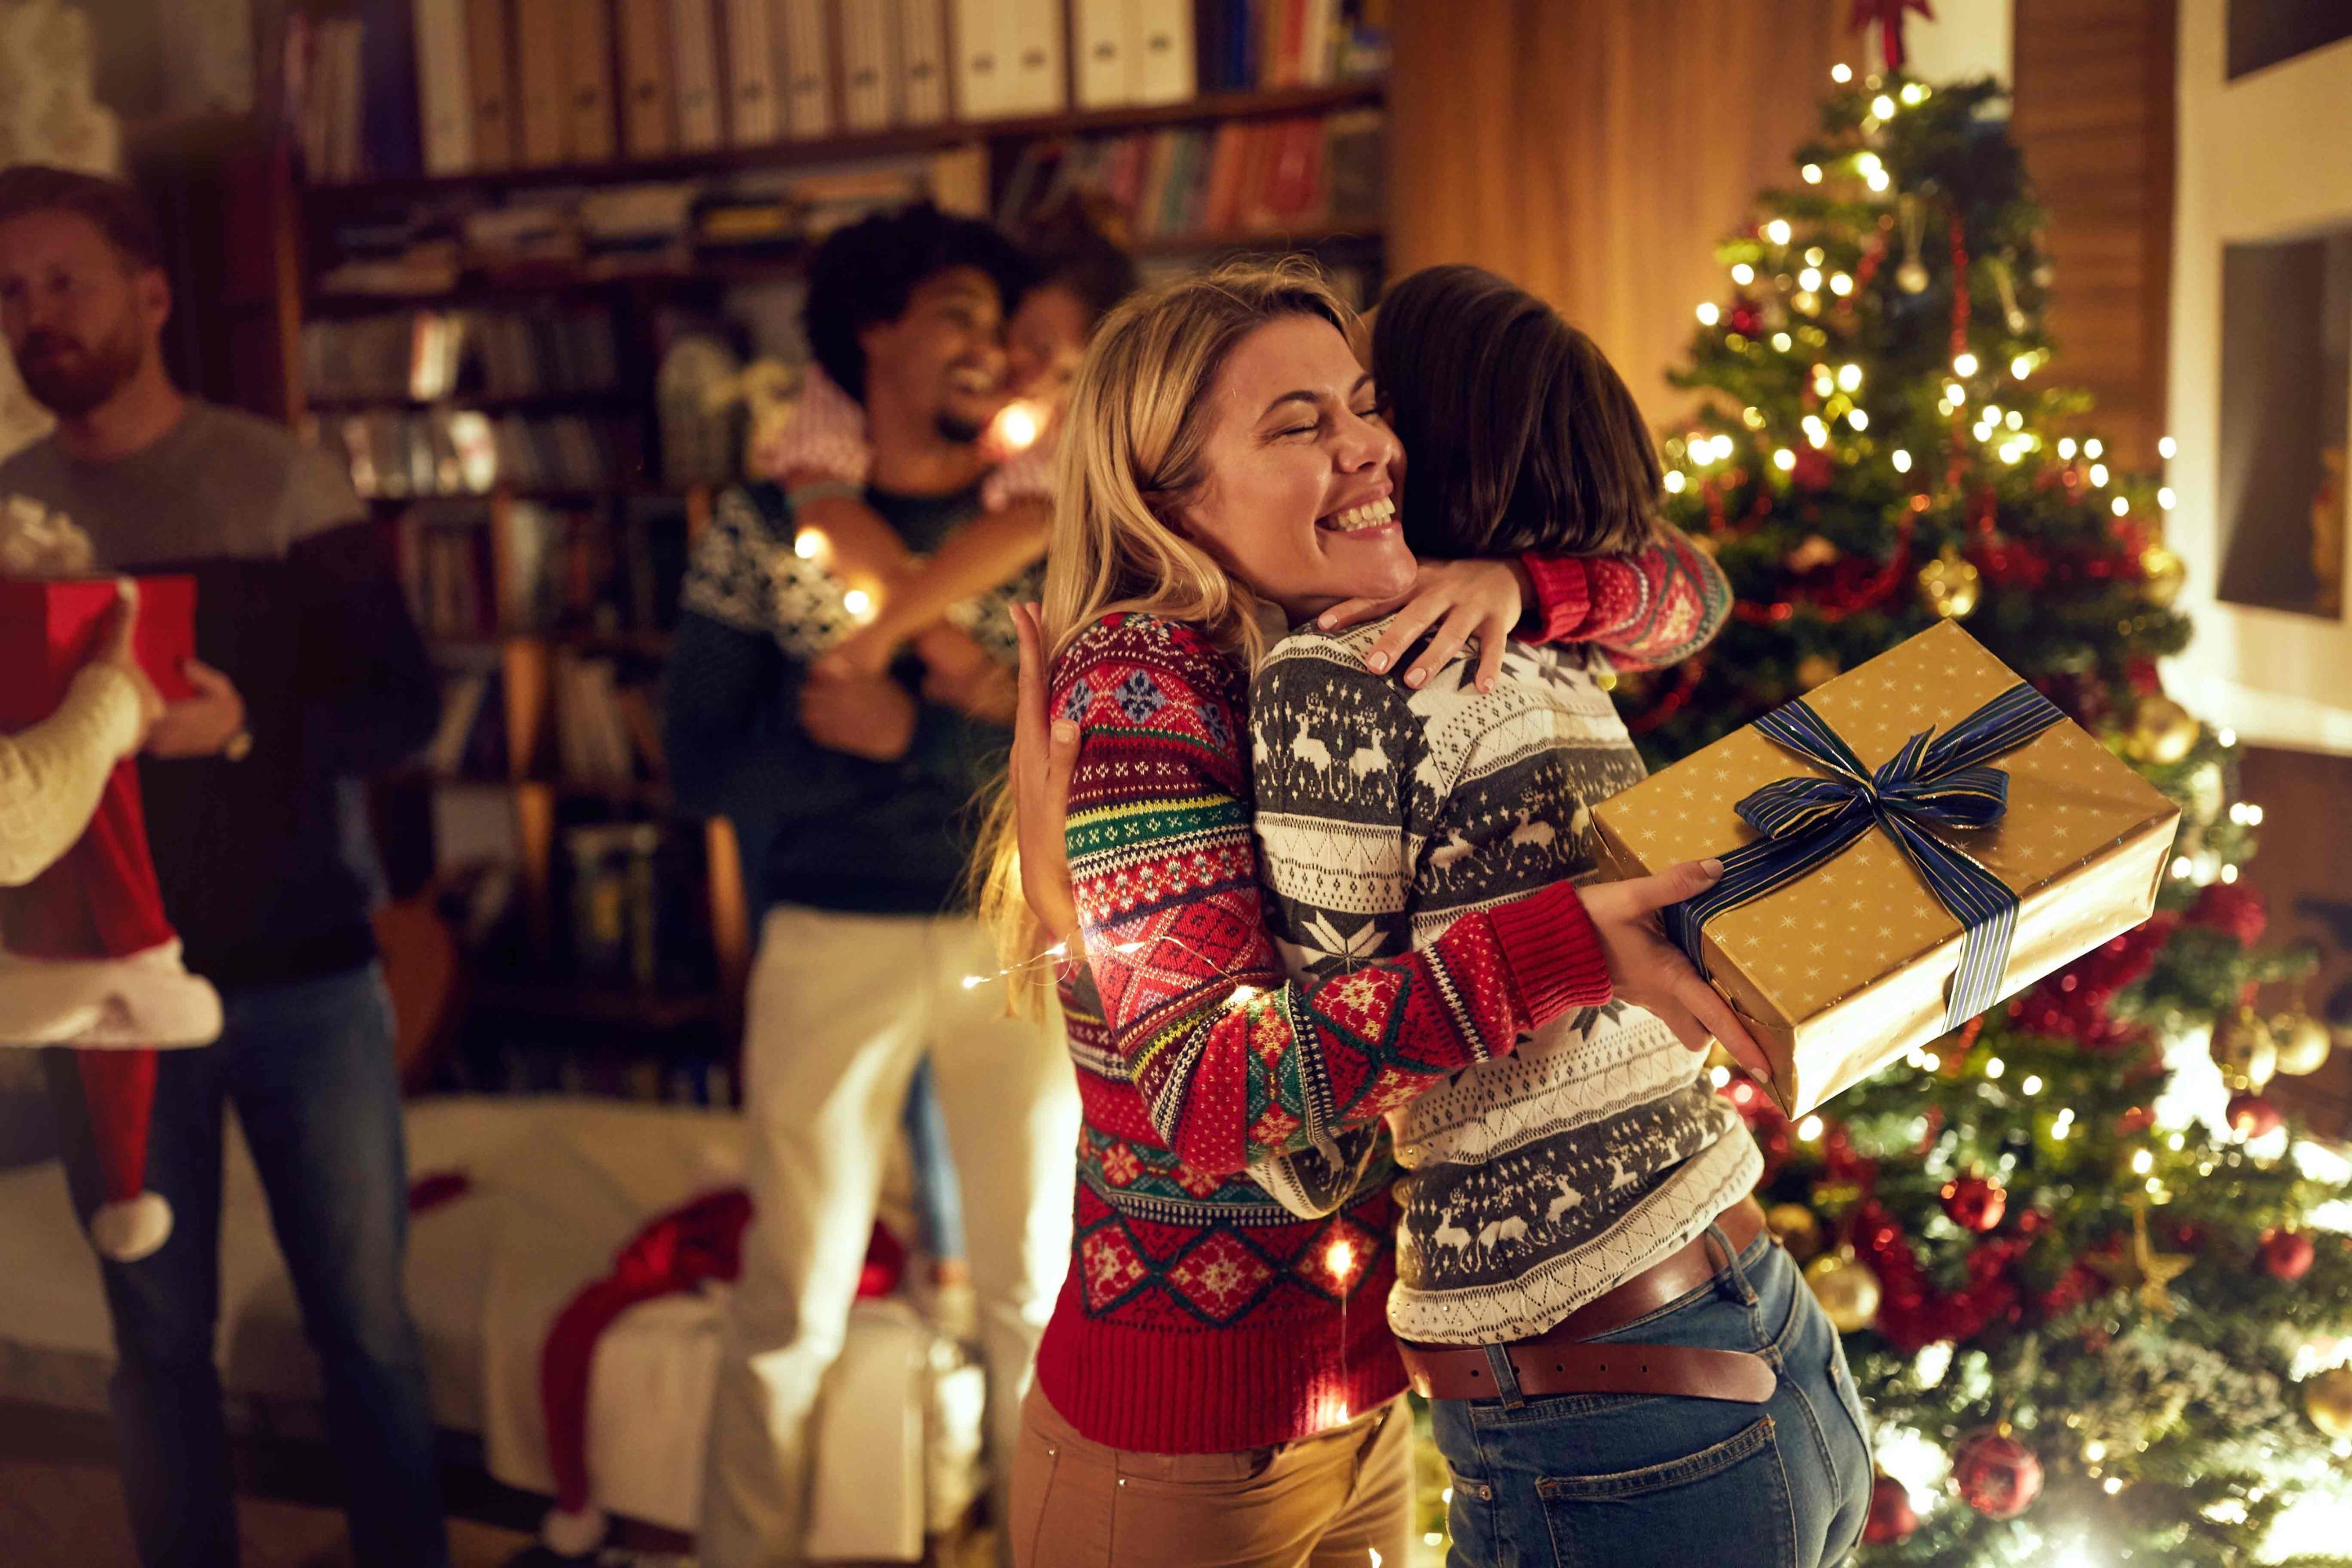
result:
<svg viewBox="0 0 2352 1568"><path fill-rule="evenodd" d="M1717 1255L1724 1255L1722 1234ZM1870 1441L1846 1352L1771 1239L1712 1284L1602 1345L1748 1349L1780 1375L1769 1403L1679 1394L1439 1399L1454 1472L1449 1568L1823 1568L1870 1512ZM1510 1375L1496 1356L1498 1375Z"/></svg>

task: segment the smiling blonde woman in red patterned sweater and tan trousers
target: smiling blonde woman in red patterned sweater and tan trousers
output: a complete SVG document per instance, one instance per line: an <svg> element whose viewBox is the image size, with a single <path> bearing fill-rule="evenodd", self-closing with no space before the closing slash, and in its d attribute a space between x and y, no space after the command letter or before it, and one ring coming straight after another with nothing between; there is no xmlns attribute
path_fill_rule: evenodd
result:
<svg viewBox="0 0 2352 1568"><path fill-rule="evenodd" d="M1261 616L1296 623L1416 578L1395 524L1402 451L1350 329L1312 270L1228 268L1120 308L1070 402L1042 635L1051 710L1080 731L1084 966L1061 1004L1087 1126L1073 1267L1014 1462L1023 1566L1404 1561L1390 1197L1301 1220L1247 1173L1571 1006L1663 999L1689 973L1646 917L1703 889L1698 865L1583 898L1543 889L1416 952L1284 980L1240 743ZM1025 922L997 903L1000 926Z"/></svg>

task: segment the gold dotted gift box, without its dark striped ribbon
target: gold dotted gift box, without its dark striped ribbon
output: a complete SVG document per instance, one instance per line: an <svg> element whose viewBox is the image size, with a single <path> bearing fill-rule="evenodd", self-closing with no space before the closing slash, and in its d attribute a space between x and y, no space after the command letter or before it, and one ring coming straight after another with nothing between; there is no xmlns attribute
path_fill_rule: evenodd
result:
<svg viewBox="0 0 2352 1568"><path fill-rule="evenodd" d="M1870 769L1912 733L1966 719L2018 677L1945 621L1806 693ZM1990 759L2009 773L1992 827L1938 832L2018 896L1999 997L2011 997L2154 910L2180 809L2072 722ZM1602 865L1642 877L1755 839L1733 806L1780 778L1830 778L1752 726L1592 811ZM1945 1032L1962 926L1893 839L1870 827L1811 872L1724 910L1705 969L1802 1117Z"/></svg>

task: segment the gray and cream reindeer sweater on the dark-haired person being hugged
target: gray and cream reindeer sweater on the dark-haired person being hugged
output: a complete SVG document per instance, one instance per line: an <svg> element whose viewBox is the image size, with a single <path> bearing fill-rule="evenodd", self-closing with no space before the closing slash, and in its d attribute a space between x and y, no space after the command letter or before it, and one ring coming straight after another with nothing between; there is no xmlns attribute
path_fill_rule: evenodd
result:
<svg viewBox="0 0 2352 1568"><path fill-rule="evenodd" d="M1298 978L1588 879L1590 806L1642 778L1583 649L1512 642L1491 693L1468 658L1411 691L1364 670L1378 632L1294 632L1249 689L1268 907ZM1703 1067L1658 1018L1613 1001L1392 1112L1397 1335L1538 1335L1745 1197L1764 1159ZM1258 1171L1303 1213L1392 1178L1378 1140Z"/></svg>

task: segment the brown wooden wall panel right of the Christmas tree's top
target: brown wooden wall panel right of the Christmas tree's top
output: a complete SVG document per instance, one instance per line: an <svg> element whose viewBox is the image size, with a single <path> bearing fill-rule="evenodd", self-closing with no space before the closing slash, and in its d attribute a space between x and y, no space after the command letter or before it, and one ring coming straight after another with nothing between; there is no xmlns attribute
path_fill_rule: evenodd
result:
<svg viewBox="0 0 2352 1568"><path fill-rule="evenodd" d="M2049 212L2051 374L2133 468L2164 435L2173 0L2016 0L2013 132Z"/></svg>

